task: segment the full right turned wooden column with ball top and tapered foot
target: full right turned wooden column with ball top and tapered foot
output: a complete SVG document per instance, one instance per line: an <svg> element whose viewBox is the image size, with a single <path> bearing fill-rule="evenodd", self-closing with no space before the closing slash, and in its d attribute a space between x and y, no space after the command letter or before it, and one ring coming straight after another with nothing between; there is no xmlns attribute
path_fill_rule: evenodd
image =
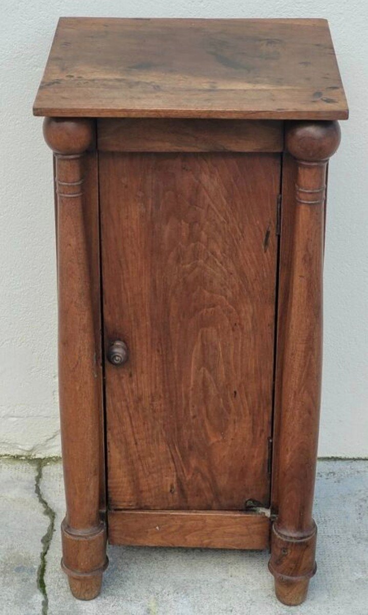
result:
<svg viewBox="0 0 368 615"><path fill-rule="evenodd" d="M321 399L323 239L326 167L340 143L337 122L290 122L286 149L296 159L295 229L283 358L278 517L270 571L278 599L299 605L315 574L312 518Z"/></svg>

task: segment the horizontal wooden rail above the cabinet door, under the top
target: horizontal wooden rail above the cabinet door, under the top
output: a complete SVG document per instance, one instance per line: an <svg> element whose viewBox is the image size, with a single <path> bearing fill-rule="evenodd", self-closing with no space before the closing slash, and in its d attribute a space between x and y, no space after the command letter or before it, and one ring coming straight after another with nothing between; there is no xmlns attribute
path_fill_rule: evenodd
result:
<svg viewBox="0 0 368 615"><path fill-rule="evenodd" d="M98 149L120 152L281 152L283 122L100 119Z"/></svg>

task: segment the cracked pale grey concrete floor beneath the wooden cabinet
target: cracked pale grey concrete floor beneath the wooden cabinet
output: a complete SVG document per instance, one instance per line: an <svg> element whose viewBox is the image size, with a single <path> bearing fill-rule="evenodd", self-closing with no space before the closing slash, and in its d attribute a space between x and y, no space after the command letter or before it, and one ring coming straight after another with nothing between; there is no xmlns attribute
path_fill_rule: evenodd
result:
<svg viewBox="0 0 368 615"><path fill-rule="evenodd" d="M368 614L368 461L319 462L318 573L294 608L275 599L267 553L143 547L109 547L100 597L77 601L60 570L60 462L3 458L0 492L1 615Z"/></svg>

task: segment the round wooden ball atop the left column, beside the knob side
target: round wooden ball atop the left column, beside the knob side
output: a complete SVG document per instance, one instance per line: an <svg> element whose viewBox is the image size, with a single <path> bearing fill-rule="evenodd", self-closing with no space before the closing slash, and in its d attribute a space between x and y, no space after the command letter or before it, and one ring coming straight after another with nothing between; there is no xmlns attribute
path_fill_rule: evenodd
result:
<svg viewBox="0 0 368 615"><path fill-rule="evenodd" d="M84 117L45 117L44 139L57 154L82 154L93 142L93 121Z"/></svg>

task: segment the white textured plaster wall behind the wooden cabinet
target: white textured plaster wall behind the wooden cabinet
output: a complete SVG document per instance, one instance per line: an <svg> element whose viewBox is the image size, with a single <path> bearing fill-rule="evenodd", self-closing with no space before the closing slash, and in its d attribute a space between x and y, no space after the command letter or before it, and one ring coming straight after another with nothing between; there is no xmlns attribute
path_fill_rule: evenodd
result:
<svg viewBox="0 0 368 615"><path fill-rule="evenodd" d="M350 104L331 162L321 456L368 456L366 0L2 0L0 454L60 454L52 158L31 113L60 15L325 17Z"/></svg>

